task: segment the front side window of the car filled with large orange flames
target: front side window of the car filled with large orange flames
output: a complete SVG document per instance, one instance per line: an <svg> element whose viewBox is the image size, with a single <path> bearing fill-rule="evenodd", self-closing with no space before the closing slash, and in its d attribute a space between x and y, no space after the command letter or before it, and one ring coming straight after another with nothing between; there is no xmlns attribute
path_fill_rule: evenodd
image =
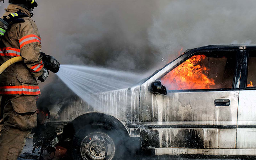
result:
<svg viewBox="0 0 256 160"><path fill-rule="evenodd" d="M161 78L167 90L232 88L237 51L200 52Z"/></svg>

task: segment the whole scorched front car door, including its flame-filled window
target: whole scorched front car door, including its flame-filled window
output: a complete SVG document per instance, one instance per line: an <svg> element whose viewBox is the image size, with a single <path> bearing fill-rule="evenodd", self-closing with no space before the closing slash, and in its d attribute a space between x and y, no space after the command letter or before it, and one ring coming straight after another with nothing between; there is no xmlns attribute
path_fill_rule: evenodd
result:
<svg viewBox="0 0 256 160"><path fill-rule="evenodd" d="M241 52L187 53L142 84L142 147L235 148ZM167 95L148 91L157 80Z"/></svg>

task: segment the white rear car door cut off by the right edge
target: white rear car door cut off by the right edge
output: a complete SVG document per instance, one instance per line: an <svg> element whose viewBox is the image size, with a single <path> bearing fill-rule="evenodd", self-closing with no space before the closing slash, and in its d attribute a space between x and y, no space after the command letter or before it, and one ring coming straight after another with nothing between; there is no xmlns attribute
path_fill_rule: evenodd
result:
<svg viewBox="0 0 256 160"><path fill-rule="evenodd" d="M256 148L256 49L248 46L244 50L241 75L237 148Z"/></svg>

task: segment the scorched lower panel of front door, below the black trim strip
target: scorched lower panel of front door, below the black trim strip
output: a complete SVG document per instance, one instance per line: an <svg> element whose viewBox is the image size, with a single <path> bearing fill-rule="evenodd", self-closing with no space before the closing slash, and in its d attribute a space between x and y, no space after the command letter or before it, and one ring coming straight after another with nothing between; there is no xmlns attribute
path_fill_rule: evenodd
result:
<svg viewBox="0 0 256 160"><path fill-rule="evenodd" d="M143 148L235 148L236 128L141 129Z"/></svg>

